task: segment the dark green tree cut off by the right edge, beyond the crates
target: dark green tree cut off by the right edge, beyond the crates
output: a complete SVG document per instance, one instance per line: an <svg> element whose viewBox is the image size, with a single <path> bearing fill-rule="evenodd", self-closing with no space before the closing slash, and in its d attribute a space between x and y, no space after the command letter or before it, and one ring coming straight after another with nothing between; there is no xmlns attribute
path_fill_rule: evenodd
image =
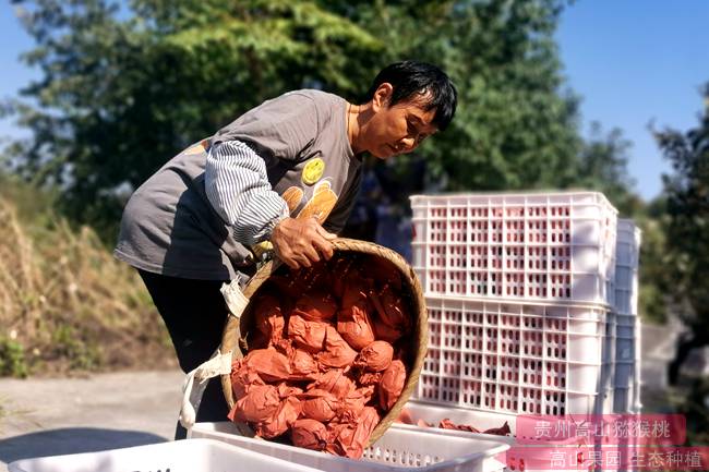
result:
<svg viewBox="0 0 709 472"><path fill-rule="evenodd" d="M672 264L674 310L688 328L670 366L670 380L694 349L709 346L709 83L697 128L686 133L666 129L656 138L674 173L663 176L666 194L666 247Z"/></svg>

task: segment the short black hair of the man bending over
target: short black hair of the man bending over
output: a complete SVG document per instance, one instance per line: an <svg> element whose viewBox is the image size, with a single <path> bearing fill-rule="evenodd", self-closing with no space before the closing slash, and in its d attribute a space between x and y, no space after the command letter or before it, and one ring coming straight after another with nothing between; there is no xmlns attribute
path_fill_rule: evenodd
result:
<svg viewBox="0 0 709 472"><path fill-rule="evenodd" d="M450 78L433 64L418 61L402 61L387 65L376 74L374 82L366 93L366 100L383 83L388 82L394 87L392 107L400 101L414 99L416 96L429 94L429 101L423 106L425 111L435 109L432 123L443 131L456 112L458 92Z"/></svg>

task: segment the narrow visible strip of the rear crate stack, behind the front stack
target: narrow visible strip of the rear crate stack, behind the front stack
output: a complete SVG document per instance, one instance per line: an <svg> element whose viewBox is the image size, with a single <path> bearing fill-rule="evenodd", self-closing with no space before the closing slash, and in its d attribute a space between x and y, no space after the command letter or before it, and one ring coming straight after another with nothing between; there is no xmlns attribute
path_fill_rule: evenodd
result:
<svg viewBox="0 0 709 472"><path fill-rule="evenodd" d="M615 263L614 412L639 413L640 318L638 317L638 262L640 229L629 219L617 222Z"/></svg>

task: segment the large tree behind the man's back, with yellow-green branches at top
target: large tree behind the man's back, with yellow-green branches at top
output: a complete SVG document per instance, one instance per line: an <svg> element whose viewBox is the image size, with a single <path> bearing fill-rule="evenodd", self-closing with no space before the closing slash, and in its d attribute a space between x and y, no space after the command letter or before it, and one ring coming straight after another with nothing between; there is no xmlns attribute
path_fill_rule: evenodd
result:
<svg viewBox="0 0 709 472"><path fill-rule="evenodd" d="M303 1L15 3L37 45L23 59L41 77L23 90L36 105L15 104L34 136L8 154L105 234L125 194L179 149L287 89L359 93L383 49Z"/></svg>

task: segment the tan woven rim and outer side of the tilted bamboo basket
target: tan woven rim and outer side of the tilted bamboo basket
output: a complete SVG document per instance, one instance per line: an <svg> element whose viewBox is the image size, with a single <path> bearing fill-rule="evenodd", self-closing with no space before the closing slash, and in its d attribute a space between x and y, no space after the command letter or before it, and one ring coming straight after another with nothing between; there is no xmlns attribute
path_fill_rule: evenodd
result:
<svg viewBox="0 0 709 472"><path fill-rule="evenodd" d="M410 353L409 365L407 365L407 379L404 385L404 390L401 391L398 401L394 407L392 407L388 413L380 421L372 432L369 443L371 446L382 437L392 423L398 419L401 409L413 392L416 384L419 380L419 374L423 365L429 339L425 299L423 296L421 283L413 273L413 269L407 264L404 257L396 252L378 244L345 238L334 240L333 245L335 247L335 255L333 257L347 257L350 253L359 253L383 257L393 263L402 276L405 300L408 300L409 313L414 318L411 323L411 332L408 336L416 346ZM287 270L289 270L289 268L277 259L266 263L243 288L243 295L250 301L255 299L254 295L257 294L259 289L272 275L284 274ZM376 275L373 275L373 277L376 278ZM253 323L253 314L250 308L251 302L247 305L247 308L243 311L240 318L229 316L225 326L220 351L231 351L232 361L242 358L248 352L247 335ZM230 375L221 375L221 388L229 408L233 408L233 404L238 399L233 398ZM240 424L238 426L242 434L253 436L253 431L251 431L247 425Z"/></svg>

